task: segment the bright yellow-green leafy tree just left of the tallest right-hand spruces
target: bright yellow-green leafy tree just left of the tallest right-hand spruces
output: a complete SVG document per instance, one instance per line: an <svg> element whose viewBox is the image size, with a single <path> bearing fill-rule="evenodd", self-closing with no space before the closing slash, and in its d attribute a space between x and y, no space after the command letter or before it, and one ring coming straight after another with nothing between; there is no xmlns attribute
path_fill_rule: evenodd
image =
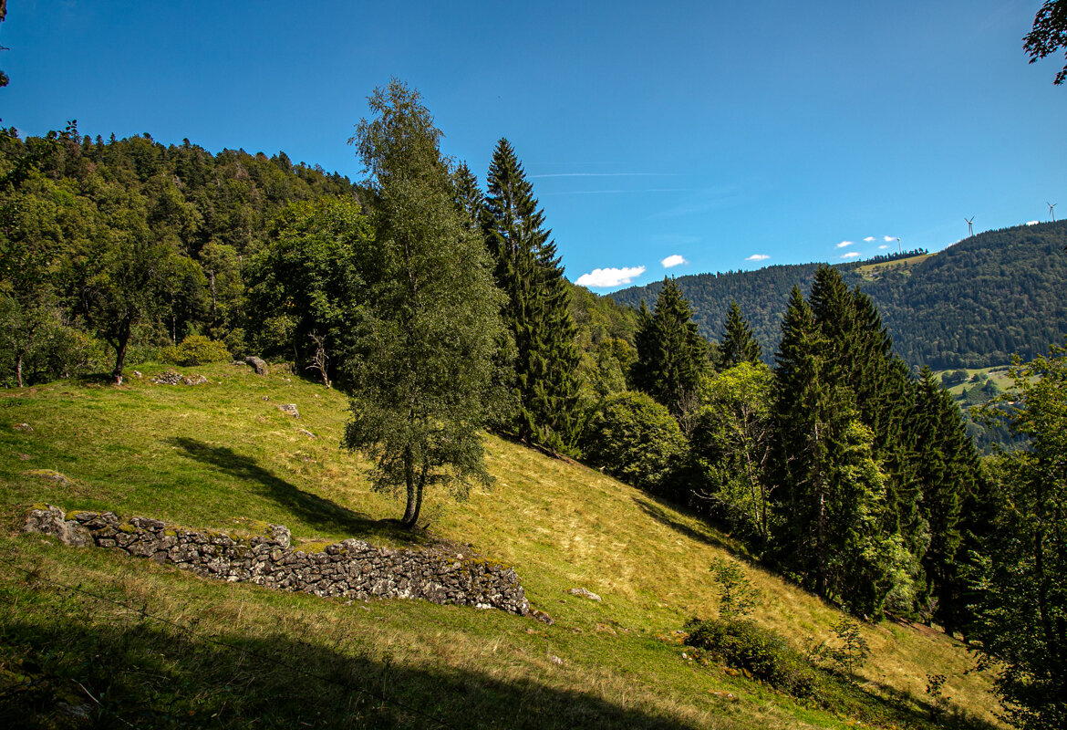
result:
<svg viewBox="0 0 1067 730"><path fill-rule="evenodd" d="M770 536L768 474L774 418L773 376L762 362L742 362L705 376L697 425L689 435L702 476L694 490L713 514L760 541Z"/></svg>

